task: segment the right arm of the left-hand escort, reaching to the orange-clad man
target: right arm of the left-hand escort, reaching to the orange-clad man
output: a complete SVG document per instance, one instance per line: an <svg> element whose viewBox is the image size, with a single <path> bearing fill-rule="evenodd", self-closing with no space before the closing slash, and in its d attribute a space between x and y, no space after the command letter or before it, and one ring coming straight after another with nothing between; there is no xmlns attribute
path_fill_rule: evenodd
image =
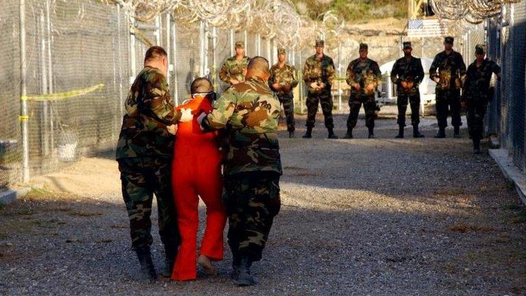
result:
<svg viewBox="0 0 526 296"><path fill-rule="evenodd" d="M155 73L143 91L143 99L137 104L140 112L166 125L175 124L181 119L181 112L175 110L171 103L168 83L164 75Z"/></svg>

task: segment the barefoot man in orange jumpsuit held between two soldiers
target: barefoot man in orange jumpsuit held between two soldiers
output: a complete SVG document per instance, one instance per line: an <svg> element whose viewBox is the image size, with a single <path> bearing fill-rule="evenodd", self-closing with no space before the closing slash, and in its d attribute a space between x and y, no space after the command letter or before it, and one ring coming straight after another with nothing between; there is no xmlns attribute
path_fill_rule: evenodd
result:
<svg viewBox="0 0 526 296"><path fill-rule="evenodd" d="M212 112L210 97L215 94L208 79L195 79L191 93L192 99L177 109L190 108L192 114L197 115ZM212 261L223 260L223 229L227 218L221 201L221 153L216 142L217 134L201 131L196 117L188 123L178 123L175 136L172 184L181 246L173 265L172 280L197 278L199 197L206 206L199 264L205 273L214 275Z"/></svg>

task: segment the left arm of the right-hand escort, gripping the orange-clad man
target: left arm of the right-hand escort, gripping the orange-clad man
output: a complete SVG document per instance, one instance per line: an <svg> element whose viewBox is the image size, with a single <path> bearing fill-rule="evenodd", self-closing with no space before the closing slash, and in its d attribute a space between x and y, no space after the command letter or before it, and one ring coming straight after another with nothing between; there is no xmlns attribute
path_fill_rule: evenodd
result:
<svg viewBox="0 0 526 296"><path fill-rule="evenodd" d="M214 110L202 117L201 127L205 131L221 130L230 121L237 105L237 91L228 88L214 104ZM201 115L202 116L202 115ZM201 117L199 116L199 117Z"/></svg>

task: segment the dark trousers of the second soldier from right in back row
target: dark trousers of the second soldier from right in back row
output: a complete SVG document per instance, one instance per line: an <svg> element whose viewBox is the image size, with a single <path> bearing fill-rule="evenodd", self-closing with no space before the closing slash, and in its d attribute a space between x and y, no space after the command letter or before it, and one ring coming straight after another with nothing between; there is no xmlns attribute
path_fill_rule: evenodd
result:
<svg viewBox="0 0 526 296"><path fill-rule="evenodd" d="M447 127L447 114L451 110L451 125L460 126L459 90L436 90L436 120L438 127Z"/></svg>

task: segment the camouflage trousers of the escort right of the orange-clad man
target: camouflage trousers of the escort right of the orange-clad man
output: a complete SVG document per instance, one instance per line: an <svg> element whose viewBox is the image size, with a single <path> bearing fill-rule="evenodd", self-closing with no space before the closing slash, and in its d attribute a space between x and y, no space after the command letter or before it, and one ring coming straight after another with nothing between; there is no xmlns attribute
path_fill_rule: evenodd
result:
<svg viewBox="0 0 526 296"><path fill-rule="evenodd" d="M240 256L261 259L274 217L279 212L279 174L247 172L226 175L223 203L228 215L228 244L234 262Z"/></svg>

